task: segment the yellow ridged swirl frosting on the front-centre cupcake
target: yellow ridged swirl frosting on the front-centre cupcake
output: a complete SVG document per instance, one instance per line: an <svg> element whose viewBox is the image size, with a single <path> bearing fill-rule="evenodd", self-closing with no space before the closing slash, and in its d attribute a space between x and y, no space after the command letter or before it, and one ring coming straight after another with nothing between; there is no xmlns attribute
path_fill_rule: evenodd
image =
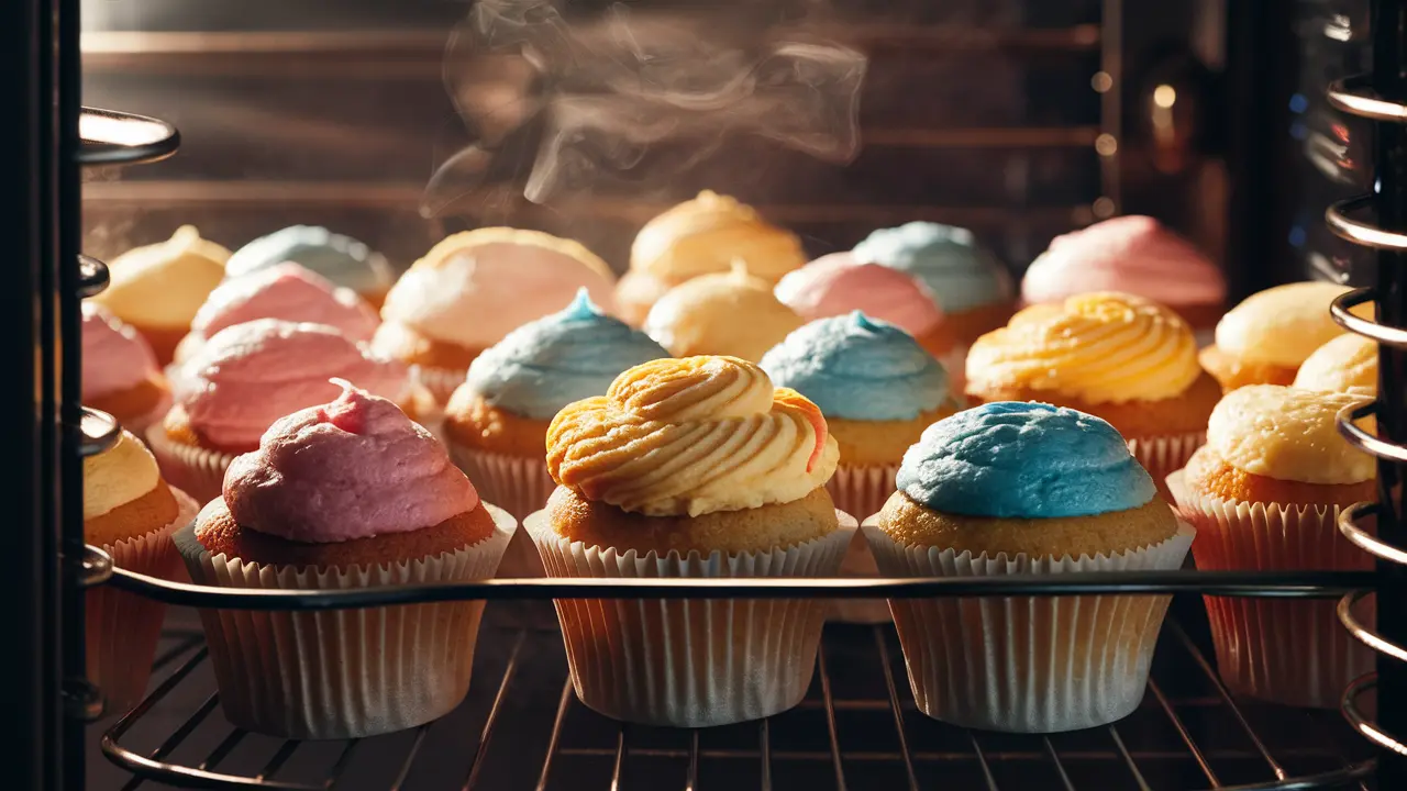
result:
<svg viewBox="0 0 1407 791"><path fill-rule="evenodd" d="M839 457L815 404L725 356L635 366L547 429L553 480L647 515L801 500L830 479Z"/></svg>

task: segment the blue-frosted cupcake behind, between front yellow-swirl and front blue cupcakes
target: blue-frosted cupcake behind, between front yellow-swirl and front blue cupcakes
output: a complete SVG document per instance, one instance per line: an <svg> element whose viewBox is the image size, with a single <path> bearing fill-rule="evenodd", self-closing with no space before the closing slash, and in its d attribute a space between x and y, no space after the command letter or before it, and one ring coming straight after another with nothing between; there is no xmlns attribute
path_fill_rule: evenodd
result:
<svg viewBox="0 0 1407 791"><path fill-rule="evenodd" d="M860 311L802 327L767 352L761 366L774 384L796 390L826 415L840 448L840 463L826 488L836 508L860 519L884 507L903 453L923 429L955 408L943 365L903 329ZM878 573L860 535L841 571ZM884 600L836 600L833 616L877 624L889 619L889 605Z"/></svg>

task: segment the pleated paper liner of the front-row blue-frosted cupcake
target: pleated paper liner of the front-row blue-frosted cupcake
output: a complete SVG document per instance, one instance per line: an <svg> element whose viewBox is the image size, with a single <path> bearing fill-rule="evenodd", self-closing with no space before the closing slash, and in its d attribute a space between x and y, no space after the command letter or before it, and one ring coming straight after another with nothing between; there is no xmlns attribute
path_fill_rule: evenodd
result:
<svg viewBox="0 0 1407 791"><path fill-rule="evenodd" d="M886 577L1175 570L1195 531L1116 555L995 557L902 546L867 519ZM1054 733L1107 725L1144 695L1169 595L891 600L919 711L965 728Z"/></svg>

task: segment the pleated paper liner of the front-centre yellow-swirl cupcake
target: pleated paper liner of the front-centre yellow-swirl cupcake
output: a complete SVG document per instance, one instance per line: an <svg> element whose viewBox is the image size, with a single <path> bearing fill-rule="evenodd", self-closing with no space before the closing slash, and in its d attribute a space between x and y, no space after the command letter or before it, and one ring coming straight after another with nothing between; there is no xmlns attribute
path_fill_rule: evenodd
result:
<svg viewBox="0 0 1407 791"><path fill-rule="evenodd" d="M523 528L549 577L833 577L855 531L771 552L640 555L559 538L537 511ZM559 600L577 697L625 722L705 728L761 719L810 685L823 600Z"/></svg>

